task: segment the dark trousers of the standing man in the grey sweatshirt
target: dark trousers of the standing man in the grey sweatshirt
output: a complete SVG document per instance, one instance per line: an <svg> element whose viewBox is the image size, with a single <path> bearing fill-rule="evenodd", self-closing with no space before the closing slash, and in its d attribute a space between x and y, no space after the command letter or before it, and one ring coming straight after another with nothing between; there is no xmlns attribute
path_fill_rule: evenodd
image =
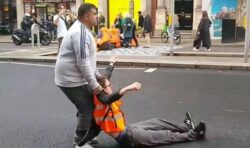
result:
<svg viewBox="0 0 250 148"><path fill-rule="evenodd" d="M68 99L77 108L77 129L76 134L79 137L85 137L81 131L88 131L86 141L91 140L97 136L100 132L99 127L95 124L93 118L94 102L93 102L93 91L89 85L80 87L59 87Z"/></svg>

